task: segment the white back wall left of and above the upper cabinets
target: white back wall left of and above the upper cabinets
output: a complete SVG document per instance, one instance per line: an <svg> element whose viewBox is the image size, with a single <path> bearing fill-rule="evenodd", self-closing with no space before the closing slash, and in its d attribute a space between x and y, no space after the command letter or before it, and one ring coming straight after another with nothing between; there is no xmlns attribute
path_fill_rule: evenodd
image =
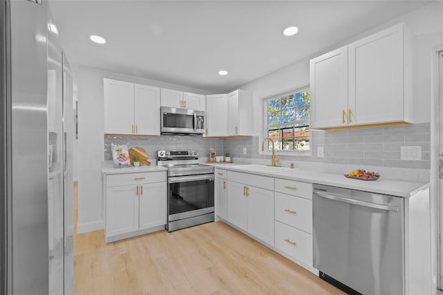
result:
<svg viewBox="0 0 443 295"><path fill-rule="evenodd" d="M100 172L104 150L103 78L192 93L212 93L87 66L79 65L75 69L78 84L78 233L85 233L105 226Z"/></svg>

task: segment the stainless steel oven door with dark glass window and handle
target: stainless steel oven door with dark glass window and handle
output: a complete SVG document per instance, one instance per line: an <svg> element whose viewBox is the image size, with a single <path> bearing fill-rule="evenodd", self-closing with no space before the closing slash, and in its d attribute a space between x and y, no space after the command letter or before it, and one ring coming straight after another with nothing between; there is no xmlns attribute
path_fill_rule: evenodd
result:
<svg viewBox="0 0 443 295"><path fill-rule="evenodd" d="M168 222L213 212L213 174L168 178Z"/></svg>

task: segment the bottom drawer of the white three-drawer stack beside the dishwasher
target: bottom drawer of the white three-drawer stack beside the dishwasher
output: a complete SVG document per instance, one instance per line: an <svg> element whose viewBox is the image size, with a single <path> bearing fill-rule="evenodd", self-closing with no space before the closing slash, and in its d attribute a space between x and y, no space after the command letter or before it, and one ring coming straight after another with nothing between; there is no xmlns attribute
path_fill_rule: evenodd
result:
<svg viewBox="0 0 443 295"><path fill-rule="evenodd" d="M312 235L275 222L275 248L312 267Z"/></svg>

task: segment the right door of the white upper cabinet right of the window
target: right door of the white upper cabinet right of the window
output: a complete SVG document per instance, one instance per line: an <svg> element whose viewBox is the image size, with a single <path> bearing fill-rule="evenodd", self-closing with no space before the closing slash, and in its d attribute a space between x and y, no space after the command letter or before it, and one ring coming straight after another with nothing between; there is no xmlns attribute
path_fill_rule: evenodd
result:
<svg viewBox="0 0 443 295"><path fill-rule="evenodd" d="M348 46L350 124L404 120L403 24Z"/></svg>

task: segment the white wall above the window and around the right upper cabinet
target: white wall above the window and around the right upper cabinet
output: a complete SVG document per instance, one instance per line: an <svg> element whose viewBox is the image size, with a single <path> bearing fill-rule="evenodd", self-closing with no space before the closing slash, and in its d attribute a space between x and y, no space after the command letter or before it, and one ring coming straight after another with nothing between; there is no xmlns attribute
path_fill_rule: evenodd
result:
<svg viewBox="0 0 443 295"><path fill-rule="evenodd" d="M414 123L429 123L431 120L431 48L443 42L443 2L435 1L418 10L392 19L371 30L362 32L350 39L313 53L305 60L290 64L283 69L248 82L239 89L253 93L254 134L262 135L262 98L309 84L309 60L358 39L404 22L413 34L414 60ZM234 89L233 89L234 90Z"/></svg>

